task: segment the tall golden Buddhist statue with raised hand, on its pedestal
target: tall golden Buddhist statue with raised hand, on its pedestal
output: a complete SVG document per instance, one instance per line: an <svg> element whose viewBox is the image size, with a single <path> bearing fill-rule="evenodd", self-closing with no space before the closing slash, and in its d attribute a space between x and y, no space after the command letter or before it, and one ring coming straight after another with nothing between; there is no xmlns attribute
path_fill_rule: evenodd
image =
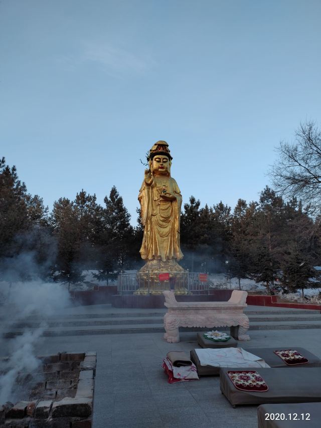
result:
<svg viewBox="0 0 321 428"><path fill-rule="evenodd" d="M187 279L182 274L186 271L178 263L183 258L180 248L182 195L171 177L172 159L166 141L157 141L152 146L147 157L149 169L145 170L138 195L144 228L140 255L145 261L138 272L139 283L146 279L141 274L148 272L150 294L161 294L161 289L164 290L159 273L169 274L165 279L166 289L170 289L172 281L177 294L187 294L184 287L182 289L182 283ZM146 287L140 287L135 294L146 294Z"/></svg>

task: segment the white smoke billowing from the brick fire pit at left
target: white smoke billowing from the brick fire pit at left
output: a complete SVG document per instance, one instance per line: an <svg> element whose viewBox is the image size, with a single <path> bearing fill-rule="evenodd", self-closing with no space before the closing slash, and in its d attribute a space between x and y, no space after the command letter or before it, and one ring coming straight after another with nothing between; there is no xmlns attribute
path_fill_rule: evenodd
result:
<svg viewBox="0 0 321 428"><path fill-rule="evenodd" d="M7 274L7 278L8 278ZM9 360L2 361L0 373L0 404L14 401L16 398L15 382L19 374L34 372L41 361L35 356L35 347L47 327L49 317L59 314L70 305L68 290L65 286L40 279L31 281L0 282L0 328L1 339L15 331L17 321L23 323L30 317L39 322L35 330L25 330L21 336L9 339L11 355ZM8 340L8 339L7 339ZM17 397L18 398L18 397Z"/></svg>

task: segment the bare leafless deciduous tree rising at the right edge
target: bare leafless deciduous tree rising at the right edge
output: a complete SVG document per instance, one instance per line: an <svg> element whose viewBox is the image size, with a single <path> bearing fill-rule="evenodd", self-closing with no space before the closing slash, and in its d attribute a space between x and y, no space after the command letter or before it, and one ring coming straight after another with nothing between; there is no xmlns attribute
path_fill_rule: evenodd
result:
<svg viewBox="0 0 321 428"><path fill-rule="evenodd" d="M293 143L281 141L272 167L274 188L284 197L297 197L321 212L321 130L315 122L301 123ZM316 214L316 213L315 213Z"/></svg>

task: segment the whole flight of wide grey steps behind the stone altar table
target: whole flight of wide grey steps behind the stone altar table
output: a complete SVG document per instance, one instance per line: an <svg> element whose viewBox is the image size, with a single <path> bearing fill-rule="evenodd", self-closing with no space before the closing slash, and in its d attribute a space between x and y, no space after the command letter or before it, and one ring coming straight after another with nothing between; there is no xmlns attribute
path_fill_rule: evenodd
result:
<svg viewBox="0 0 321 428"><path fill-rule="evenodd" d="M318 311L280 309L249 306L244 311L250 319L252 330L320 329ZM12 338L27 330L44 327L43 336L78 336L122 333L164 333L163 319L166 310L118 309L110 305L70 308L46 320L28 318L14 321L5 337ZM207 331L208 328L181 328L180 331ZM224 330L220 328L220 330Z"/></svg>

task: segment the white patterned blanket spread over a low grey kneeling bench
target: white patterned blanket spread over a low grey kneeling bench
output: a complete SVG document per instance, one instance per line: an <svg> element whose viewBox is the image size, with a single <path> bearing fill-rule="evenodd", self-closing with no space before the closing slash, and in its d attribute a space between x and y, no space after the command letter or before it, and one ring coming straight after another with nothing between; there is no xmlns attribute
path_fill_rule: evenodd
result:
<svg viewBox="0 0 321 428"><path fill-rule="evenodd" d="M262 358L242 348L195 349L201 366L270 367Z"/></svg>

